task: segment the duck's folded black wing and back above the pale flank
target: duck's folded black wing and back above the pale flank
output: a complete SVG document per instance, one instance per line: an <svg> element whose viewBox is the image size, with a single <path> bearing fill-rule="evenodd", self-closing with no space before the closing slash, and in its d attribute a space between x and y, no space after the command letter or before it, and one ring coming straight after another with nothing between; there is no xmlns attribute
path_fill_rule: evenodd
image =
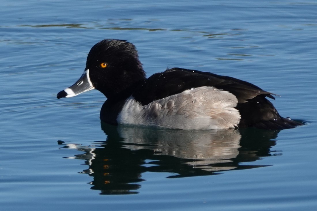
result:
<svg viewBox="0 0 317 211"><path fill-rule="evenodd" d="M201 86L214 86L228 91L236 96L239 103L245 103L258 95L275 99L272 93L243 80L181 68L167 69L163 73L153 74L133 92L133 96L142 105L147 105L154 100Z"/></svg>

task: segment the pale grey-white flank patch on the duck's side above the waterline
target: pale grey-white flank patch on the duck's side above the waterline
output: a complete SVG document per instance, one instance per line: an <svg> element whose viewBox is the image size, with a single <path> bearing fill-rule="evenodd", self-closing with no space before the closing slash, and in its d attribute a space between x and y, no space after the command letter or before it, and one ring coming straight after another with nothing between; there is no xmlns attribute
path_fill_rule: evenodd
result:
<svg viewBox="0 0 317 211"><path fill-rule="evenodd" d="M117 121L119 124L156 125L184 130L234 128L241 118L235 109L237 103L236 97L227 91L202 86L144 106L130 97Z"/></svg>

